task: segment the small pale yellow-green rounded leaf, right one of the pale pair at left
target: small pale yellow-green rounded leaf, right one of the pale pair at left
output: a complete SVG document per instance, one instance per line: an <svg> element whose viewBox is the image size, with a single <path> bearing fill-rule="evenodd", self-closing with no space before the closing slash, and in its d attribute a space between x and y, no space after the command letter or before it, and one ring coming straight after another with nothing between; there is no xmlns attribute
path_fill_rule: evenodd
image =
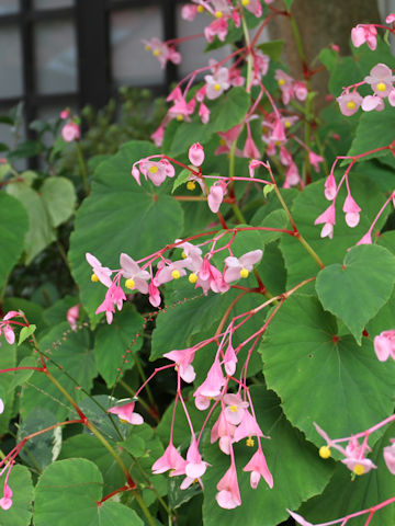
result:
<svg viewBox="0 0 395 526"><path fill-rule="evenodd" d="M58 227L71 217L77 203L76 190L66 178L46 179L40 188L53 227Z"/></svg>

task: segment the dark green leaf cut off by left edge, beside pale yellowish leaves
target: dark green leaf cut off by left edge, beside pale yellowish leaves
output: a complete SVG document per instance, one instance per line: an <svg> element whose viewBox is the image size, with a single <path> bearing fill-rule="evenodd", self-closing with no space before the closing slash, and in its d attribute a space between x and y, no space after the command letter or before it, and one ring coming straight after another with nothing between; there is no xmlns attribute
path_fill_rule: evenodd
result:
<svg viewBox="0 0 395 526"><path fill-rule="evenodd" d="M4 282L23 250L27 231L27 214L11 195L0 192L0 284Z"/></svg>

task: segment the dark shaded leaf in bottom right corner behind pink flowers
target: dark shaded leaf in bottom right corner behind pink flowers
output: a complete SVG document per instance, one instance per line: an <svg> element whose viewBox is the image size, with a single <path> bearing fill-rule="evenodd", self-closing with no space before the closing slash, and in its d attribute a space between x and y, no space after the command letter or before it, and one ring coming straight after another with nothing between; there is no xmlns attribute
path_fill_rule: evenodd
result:
<svg viewBox="0 0 395 526"><path fill-rule="evenodd" d="M298 513L313 523L323 523L366 510L394 496L394 476L388 471L383 458L383 447L390 445L390 438L394 433L395 425L392 425L375 444L373 453L369 455L377 469L372 469L369 473L352 480L350 471L339 462L323 495L306 502ZM369 513L353 518L350 525L363 526L366 524L368 516ZM395 524L394 504L376 512L369 524L371 526Z"/></svg>

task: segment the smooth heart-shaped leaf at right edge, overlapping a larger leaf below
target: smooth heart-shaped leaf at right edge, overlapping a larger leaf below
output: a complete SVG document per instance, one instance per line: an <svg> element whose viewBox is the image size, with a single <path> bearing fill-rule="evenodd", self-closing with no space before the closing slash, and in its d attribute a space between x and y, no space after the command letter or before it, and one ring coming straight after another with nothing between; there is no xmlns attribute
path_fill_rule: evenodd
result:
<svg viewBox="0 0 395 526"><path fill-rule="evenodd" d="M343 264L323 268L316 290L325 310L340 318L358 343L362 331L390 299L395 283L395 258L383 247L362 244L347 253Z"/></svg>

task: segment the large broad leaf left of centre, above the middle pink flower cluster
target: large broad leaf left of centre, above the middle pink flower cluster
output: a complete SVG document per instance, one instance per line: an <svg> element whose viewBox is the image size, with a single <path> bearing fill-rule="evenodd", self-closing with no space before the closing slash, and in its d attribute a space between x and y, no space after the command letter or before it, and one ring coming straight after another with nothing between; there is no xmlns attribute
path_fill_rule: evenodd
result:
<svg viewBox="0 0 395 526"><path fill-rule="evenodd" d="M142 176L138 186L131 175L133 162L157 151L149 142L124 145L116 156L99 164L91 193L77 214L69 260L93 323L99 320L94 311L104 299L105 288L90 282L86 252L99 258L103 266L119 268L121 252L138 260L166 247L182 232L182 209L177 201L165 195L166 186L172 183L157 187Z"/></svg>

